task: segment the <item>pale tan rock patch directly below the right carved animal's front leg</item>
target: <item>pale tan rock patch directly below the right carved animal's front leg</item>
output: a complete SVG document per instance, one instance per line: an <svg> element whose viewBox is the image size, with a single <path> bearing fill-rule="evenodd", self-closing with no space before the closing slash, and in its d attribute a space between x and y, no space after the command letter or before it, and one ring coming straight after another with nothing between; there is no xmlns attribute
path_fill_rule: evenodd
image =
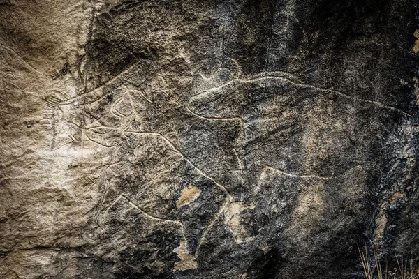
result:
<svg viewBox="0 0 419 279"><path fill-rule="evenodd" d="M245 209L252 209L252 207L247 206L244 204L244 202L232 202L230 206L228 206L226 218L224 218L224 224L230 227L230 231L233 233L237 243L242 243L253 239L246 227L240 223L240 213Z"/></svg>

